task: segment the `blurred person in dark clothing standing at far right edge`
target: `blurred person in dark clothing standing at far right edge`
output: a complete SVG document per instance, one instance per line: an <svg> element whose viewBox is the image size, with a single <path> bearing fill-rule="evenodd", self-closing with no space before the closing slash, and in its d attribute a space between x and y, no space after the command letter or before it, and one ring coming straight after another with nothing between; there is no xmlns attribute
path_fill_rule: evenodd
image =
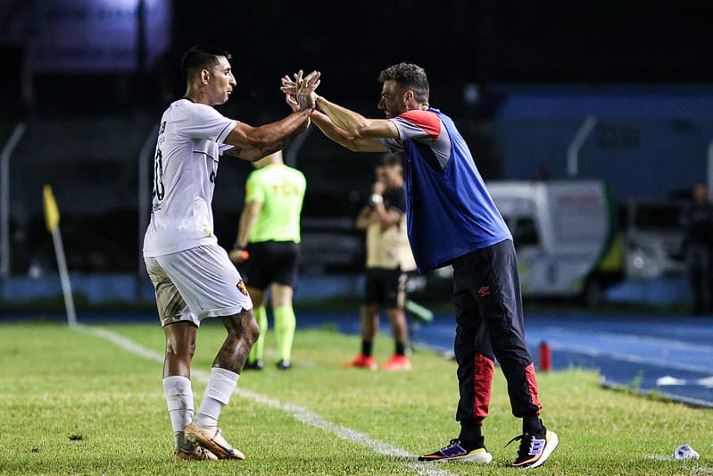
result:
<svg viewBox="0 0 713 476"><path fill-rule="evenodd" d="M693 313L713 312L713 205L708 187L693 187L692 203L681 216L685 258L693 290Z"/></svg>

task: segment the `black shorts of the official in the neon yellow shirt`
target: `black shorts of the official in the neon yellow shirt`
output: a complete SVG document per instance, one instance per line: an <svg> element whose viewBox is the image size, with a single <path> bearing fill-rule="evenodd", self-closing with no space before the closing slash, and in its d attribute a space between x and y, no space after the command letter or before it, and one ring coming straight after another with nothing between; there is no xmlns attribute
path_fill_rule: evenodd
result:
<svg viewBox="0 0 713 476"><path fill-rule="evenodd" d="M267 289L272 283L294 288L300 263L300 244L294 241L261 241L247 247L250 258L240 268L245 283Z"/></svg>

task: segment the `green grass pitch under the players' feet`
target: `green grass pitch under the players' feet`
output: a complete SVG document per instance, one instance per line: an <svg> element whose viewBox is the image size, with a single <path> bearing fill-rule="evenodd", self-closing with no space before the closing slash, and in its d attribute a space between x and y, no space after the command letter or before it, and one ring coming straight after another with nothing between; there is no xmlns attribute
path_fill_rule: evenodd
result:
<svg viewBox="0 0 713 476"><path fill-rule="evenodd" d="M224 331L207 322L194 360L196 408ZM170 461L158 324L0 326L0 473L3 474L513 474L519 421L498 369L485 444L493 463L416 463L458 434L455 364L417 348L414 370L344 369L358 338L300 330L294 369L245 372L221 416L247 460ZM119 338L123 340L119 341ZM268 351L274 349L271 332ZM377 339L377 360L392 350ZM713 413L601 388L595 372L538 374L543 420L560 447L542 474L713 474ZM681 443L698 461L666 460Z"/></svg>

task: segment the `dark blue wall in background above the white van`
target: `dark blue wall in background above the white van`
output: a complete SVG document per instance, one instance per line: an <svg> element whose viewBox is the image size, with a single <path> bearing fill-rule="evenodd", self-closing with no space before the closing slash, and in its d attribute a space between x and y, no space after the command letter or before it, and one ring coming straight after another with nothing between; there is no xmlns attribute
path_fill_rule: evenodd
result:
<svg viewBox="0 0 713 476"><path fill-rule="evenodd" d="M504 178L566 178L568 146L590 115L579 177L606 180L620 200L665 199L707 180L713 90L701 87L510 92L493 119Z"/></svg>

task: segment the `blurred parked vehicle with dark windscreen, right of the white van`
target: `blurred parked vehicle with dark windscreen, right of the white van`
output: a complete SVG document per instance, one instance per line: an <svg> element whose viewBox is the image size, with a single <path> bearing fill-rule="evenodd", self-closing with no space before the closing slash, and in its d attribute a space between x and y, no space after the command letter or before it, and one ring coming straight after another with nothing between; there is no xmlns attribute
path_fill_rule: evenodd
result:
<svg viewBox="0 0 713 476"><path fill-rule="evenodd" d="M626 278L631 280L677 276L686 272L683 205L652 200L626 204L624 241Z"/></svg>

